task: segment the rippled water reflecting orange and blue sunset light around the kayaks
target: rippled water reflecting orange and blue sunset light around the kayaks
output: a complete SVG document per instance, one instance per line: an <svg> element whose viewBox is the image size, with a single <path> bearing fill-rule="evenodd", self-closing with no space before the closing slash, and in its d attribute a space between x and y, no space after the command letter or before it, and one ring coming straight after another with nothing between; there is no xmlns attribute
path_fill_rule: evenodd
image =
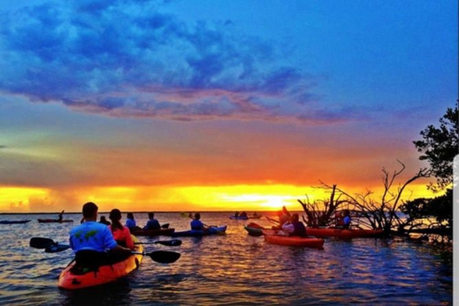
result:
<svg viewBox="0 0 459 306"><path fill-rule="evenodd" d="M146 215L135 216L137 224L146 222ZM202 213L206 224L228 225L227 235L183 237L179 247L145 246L180 252L176 263L145 257L139 270L117 283L67 292L56 282L71 250L48 254L30 248L29 241L49 237L67 243L80 215L64 215L73 224L39 224L40 217L54 215L0 215L1 220L32 219L0 224L0 305L452 304L451 253L401 239L327 239L323 250L276 246L248 236L247 222L229 220L228 213ZM179 213L156 217L177 231L189 227ZM256 222L268 225L264 218Z"/></svg>

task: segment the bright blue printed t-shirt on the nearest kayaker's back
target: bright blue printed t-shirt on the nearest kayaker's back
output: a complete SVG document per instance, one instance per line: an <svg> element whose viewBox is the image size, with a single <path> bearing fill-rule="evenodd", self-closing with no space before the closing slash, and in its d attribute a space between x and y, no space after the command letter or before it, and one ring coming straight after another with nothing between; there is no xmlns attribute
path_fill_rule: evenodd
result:
<svg viewBox="0 0 459 306"><path fill-rule="evenodd" d="M106 249L117 246L108 226L95 221L84 222L73 228L70 231L69 240L74 252L79 250L104 252Z"/></svg>

